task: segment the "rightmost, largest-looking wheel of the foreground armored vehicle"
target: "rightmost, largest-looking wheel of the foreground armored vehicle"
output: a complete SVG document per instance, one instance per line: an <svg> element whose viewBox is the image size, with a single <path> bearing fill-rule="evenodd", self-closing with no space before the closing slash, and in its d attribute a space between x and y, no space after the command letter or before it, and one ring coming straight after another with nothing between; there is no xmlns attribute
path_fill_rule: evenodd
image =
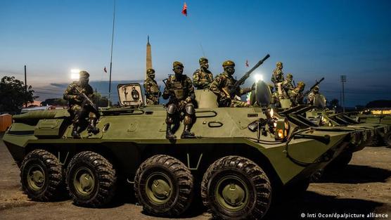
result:
<svg viewBox="0 0 391 220"><path fill-rule="evenodd" d="M216 219L260 219L270 207L271 185L255 162L228 156L207 169L201 196Z"/></svg>

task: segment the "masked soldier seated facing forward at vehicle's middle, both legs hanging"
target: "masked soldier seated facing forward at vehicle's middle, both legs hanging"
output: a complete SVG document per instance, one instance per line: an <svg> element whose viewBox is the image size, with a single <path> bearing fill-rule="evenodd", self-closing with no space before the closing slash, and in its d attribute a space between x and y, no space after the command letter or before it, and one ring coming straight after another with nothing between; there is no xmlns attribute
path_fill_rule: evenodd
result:
<svg viewBox="0 0 391 220"><path fill-rule="evenodd" d="M167 79L165 91L163 91L162 95L164 99L169 98L169 102L167 103L166 138L177 138L172 133L172 124L179 123L182 112L184 113L184 131L181 134L181 138L195 138L196 136L190 131L196 113L192 103L196 98L193 83L189 77L182 75L184 72L184 65L182 63L175 61L172 67L175 75Z"/></svg>

